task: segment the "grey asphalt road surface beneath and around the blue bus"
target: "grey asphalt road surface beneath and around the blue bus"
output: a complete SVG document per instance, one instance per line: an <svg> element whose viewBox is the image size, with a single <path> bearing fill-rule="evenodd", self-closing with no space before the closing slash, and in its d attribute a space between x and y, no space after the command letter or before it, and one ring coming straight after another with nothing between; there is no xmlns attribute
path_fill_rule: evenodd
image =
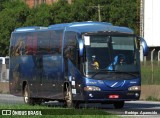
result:
<svg viewBox="0 0 160 118"><path fill-rule="evenodd" d="M22 97L10 94L0 94L0 104L24 104ZM57 102L45 103L45 105L56 106ZM83 105L81 105L83 107ZM140 115L140 113L151 113L147 118L160 117L160 102L152 101L127 101L123 109L114 109L113 105L89 104L87 107L104 109L107 112L126 117L126 115ZM138 113L138 114L137 114ZM158 116L156 115L158 113ZM146 115L146 114L145 114ZM148 114L147 114L148 115ZM143 115L141 115L142 117ZM127 116L128 117L128 116ZM146 116L144 116L146 118Z"/></svg>

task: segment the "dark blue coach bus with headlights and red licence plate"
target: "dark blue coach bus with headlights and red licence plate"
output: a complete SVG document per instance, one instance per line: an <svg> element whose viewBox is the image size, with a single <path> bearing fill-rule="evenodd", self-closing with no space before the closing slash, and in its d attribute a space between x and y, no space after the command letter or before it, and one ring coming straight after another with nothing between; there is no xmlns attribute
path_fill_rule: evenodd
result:
<svg viewBox="0 0 160 118"><path fill-rule="evenodd" d="M57 100L114 104L138 100L140 45L127 27L107 22L73 22L15 29L10 39L10 93L27 104Z"/></svg>

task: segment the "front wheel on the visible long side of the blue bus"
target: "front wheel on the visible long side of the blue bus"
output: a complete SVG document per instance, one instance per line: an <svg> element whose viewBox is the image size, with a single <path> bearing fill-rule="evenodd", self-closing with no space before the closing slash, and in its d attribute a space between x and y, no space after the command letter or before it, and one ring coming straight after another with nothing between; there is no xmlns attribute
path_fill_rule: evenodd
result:
<svg viewBox="0 0 160 118"><path fill-rule="evenodd" d="M71 86L67 86L66 90L64 91L64 106L68 108L78 108L79 107L79 102L78 101L73 101L73 96L72 96L72 89Z"/></svg>

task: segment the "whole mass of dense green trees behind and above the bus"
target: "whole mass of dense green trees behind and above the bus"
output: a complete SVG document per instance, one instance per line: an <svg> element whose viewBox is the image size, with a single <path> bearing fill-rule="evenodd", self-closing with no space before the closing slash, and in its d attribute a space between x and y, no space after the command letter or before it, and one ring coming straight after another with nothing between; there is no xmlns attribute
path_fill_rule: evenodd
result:
<svg viewBox="0 0 160 118"><path fill-rule="evenodd" d="M22 0L0 0L0 55L8 55L11 32L23 26L101 21L132 28L139 34L139 0L58 0L52 5L29 8Z"/></svg>

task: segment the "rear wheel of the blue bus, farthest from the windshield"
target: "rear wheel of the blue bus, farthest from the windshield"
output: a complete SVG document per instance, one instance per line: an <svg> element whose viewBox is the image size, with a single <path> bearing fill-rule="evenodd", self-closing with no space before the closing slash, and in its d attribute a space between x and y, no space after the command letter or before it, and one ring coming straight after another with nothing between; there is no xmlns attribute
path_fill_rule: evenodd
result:
<svg viewBox="0 0 160 118"><path fill-rule="evenodd" d="M34 100L30 97L30 90L28 85L24 87L23 100L25 104L34 105Z"/></svg>

